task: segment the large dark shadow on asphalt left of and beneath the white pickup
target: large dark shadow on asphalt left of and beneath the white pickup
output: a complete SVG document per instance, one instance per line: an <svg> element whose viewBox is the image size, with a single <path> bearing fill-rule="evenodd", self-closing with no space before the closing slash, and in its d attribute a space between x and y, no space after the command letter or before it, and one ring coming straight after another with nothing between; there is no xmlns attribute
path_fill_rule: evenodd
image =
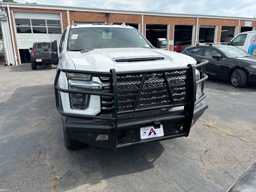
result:
<svg viewBox="0 0 256 192"><path fill-rule="evenodd" d="M36 182L33 174L46 174L38 178L42 182L51 174L50 166L45 164L48 154L51 166L62 177L58 180L60 191L152 169L164 151L159 142L116 152L91 146L66 150L51 84L17 88L6 102L0 103L0 108L4 114L0 118L1 175L8 177L18 172L24 174L25 181ZM40 173L32 172L34 166L40 167Z"/></svg>

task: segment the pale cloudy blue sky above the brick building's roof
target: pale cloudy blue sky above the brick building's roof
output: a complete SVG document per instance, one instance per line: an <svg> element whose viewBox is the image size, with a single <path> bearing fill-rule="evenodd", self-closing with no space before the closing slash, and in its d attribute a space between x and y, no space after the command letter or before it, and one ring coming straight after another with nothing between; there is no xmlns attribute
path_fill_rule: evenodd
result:
<svg viewBox="0 0 256 192"><path fill-rule="evenodd" d="M19 3L254 18L256 0L15 0Z"/></svg>

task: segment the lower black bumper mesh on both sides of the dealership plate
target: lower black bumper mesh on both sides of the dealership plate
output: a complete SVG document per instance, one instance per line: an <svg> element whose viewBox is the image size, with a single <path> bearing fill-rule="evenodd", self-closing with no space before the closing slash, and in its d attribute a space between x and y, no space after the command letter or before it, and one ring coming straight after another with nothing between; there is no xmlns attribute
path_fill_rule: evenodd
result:
<svg viewBox="0 0 256 192"><path fill-rule="evenodd" d="M164 136L179 134L183 132L183 123L163 124ZM125 131L125 137L117 139L117 144L124 144L140 140L140 129L132 129Z"/></svg>

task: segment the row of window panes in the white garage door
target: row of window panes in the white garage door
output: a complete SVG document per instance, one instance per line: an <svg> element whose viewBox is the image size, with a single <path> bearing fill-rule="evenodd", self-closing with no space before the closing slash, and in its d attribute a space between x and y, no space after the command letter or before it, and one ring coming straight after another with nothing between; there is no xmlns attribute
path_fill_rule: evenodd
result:
<svg viewBox="0 0 256 192"><path fill-rule="evenodd" d="M61 34L60 20L15 19L17 33Z"/></svg>

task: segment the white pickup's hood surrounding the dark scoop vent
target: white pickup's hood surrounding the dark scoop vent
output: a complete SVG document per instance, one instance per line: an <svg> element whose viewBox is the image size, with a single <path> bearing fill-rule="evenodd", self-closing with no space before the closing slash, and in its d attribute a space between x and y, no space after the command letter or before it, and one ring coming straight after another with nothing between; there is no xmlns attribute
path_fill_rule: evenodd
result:
<svg viewBox="0 0 256 192"><path fill-rule="evenodd" d="M148 69L166 69L184 67L188 64L196 64L194 58L167 50L150 48L105 48L94 49L82 53L80 51L68 51L70 59L76 70L109 72L133 71ZM163 57L163 60L116 62L118 58L152 58Z"/></svg>

